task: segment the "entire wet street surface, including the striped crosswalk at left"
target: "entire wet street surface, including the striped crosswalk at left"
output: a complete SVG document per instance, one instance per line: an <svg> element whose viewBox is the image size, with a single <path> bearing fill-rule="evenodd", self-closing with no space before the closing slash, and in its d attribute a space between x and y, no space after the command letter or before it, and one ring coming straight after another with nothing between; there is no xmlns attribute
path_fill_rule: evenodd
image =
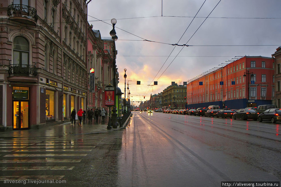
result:
<svg viewBox="0 0 281 187"><path fill-rule="evenodd" d="M0 180L18 176L66 180L27 185L55 187L196 187L281 180L280 123L133 114L129 127L114 132L0 140ZM26 186L2 182L1 186Z"/></svg>

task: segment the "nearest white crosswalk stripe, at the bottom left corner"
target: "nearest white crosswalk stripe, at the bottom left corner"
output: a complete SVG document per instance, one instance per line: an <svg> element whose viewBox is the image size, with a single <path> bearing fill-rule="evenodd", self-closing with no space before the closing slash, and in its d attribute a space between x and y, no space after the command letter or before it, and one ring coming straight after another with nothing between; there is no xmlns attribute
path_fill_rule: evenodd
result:
<svg viewBox="0 0 281 187"><path fill-rule="evenodd" d="M62 180L64 175L30 175L30 176L0 176L0 181L5 180Z"/></svg>

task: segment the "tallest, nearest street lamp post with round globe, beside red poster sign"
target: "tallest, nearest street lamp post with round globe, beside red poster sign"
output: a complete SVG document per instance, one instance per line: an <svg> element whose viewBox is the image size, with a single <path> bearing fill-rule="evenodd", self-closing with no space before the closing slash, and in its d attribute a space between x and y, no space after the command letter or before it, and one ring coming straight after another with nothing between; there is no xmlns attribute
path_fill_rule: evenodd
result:
<svg viewBox="0 0 281 187"><path fill-rule="evenodd" d="M111 19L112 23L112 30L109 32L110 36L112 37L113 40L113 87L114 87L114 97L116 96L116 60L115 60L115 52L116 52L116 46L115 46L115 41L118 39L116 36L116 31L115 31L115 24L117 23L117 20L115 18ZM114 98L114 107L112 109L112 120L113 120L113 128L117 128L117 114L116 114L116 97ZM109 115L110 116L110 115ZM107 129L111 129L111 124L110 124L110 119L108 121Z"/></svg>

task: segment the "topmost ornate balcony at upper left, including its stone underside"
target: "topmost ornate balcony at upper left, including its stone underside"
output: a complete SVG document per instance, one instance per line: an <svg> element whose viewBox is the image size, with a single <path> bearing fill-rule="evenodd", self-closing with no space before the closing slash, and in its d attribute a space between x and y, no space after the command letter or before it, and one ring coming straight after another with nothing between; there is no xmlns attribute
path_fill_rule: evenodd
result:
<svg viewBox="0 0 281 187"><path fill-rule="evenodd" d="M35 8L21 4L9 5L8 16L10 20L29 25L36 25L38 19L37 10Z"/></svg>

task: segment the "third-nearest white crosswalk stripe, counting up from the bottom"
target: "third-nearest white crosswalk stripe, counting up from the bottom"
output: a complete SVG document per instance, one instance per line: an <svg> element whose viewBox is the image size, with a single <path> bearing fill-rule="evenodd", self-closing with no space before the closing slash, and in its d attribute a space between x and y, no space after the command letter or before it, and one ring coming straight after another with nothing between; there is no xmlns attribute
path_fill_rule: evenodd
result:
<svg viewBox="0 0 281 187"><path fill-rule="evenodd" d="M0 160L0 163L53 163L53 162L81 162L81 159L44 159L44 160Z"/></svg>

